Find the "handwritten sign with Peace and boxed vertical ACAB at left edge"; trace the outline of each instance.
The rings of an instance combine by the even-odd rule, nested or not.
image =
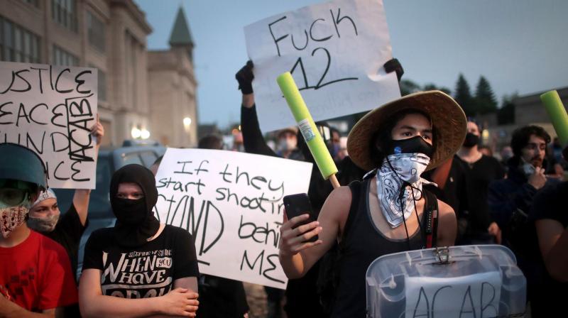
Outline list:
[[[94,189],[97,70],[0,62],[0,143],[38,153],[54,188]]]

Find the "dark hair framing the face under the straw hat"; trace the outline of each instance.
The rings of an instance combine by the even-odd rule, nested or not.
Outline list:
[[[385,160],[386,156],[389,155],[389,152],[393,147],[393,128],[395,128],[398,122],[405,118],[405,116],[411,114],[419,114],[425,116],[428,121],[430,121],[430,124],[432,123],[430,115],[419,109],[403,109],[391,115],[389,120],[385,121],[385,126],[383,126],[383,128],[380,128],[373,135],[373,138],[371,138],[371,143],[368,145],[369,149],[371,150],[370,153],[373,160],[373,165],[376,168],[381,168],[383,160]],[[436,141],[438,140],[437,134],[438,133],[436,128],[432,126],[432,146],[434,147],[434,150],[436,149]]]

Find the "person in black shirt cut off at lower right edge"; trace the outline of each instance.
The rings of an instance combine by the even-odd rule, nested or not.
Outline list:
[[[568,182],[545,187],[532,202],[529,221],[537,241],[525,248],[537,264],[528,279],[532,317],[562,317],[568,299]]]

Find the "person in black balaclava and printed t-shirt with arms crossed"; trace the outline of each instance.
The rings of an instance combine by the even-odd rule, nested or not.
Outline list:
[[[82,315],[195,317],[199,270],[193,238],[153,215],[153,173],[142,165],[116,170],[110,199],[114,228],[94,231],[85,246]]]

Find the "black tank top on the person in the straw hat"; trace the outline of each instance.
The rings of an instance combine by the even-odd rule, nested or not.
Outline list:
[[[406,238],[386,238],[373,223],[368,206],[371,180],[354,181],[349,185],[353,194],[347,221],[350,224],[341,244],[339,285],[332,318],[366,317],[365,274],[368,266],[380,256],[408,251]],[[410,236],[410,248],[413,250],[422,248],[422,234],[419,232]]]

